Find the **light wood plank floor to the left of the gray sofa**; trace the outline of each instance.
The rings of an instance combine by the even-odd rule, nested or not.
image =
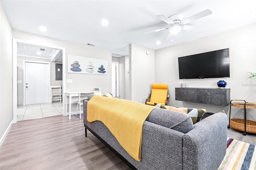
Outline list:
[[[56,116],[14,124],[0,148],[0,170],[130,169],[88,132],[82,119]]]

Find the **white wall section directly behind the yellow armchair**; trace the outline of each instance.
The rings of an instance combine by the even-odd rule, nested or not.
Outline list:
[[[146,55],[146,51],[149,51],[149,55]],[[145,103],[150,94],[151,85],[155,83],[155,51],[130,44],[129,54],[130,100],[136,102],[141,100]]]

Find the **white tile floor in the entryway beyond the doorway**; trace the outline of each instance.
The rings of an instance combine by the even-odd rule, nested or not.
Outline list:
[[[62,103],[43,103],[17,107],[17,121],[62,115]]]

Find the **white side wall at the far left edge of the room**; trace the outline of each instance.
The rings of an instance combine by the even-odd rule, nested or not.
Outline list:
[[[12,126],[12,28],[0,1],[0,146]]]

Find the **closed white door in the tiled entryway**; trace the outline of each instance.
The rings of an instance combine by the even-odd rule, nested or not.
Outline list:
[[[50,103],[49,63],[25,62],[25,104]]]

